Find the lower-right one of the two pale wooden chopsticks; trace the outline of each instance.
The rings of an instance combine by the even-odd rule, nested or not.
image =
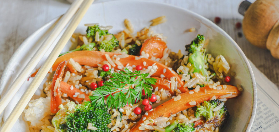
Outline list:
[[[79,0],[76,0],[79,1]],[[51,69],[52,64],[57,59],[59,53],[62,51],[63,47],[66,45],[72,34],[74,33],[74,30],[79,25],[79,22],[87,12],[90,5],[93,3],[94,0],[85,0],[78,12],[75,14],[74,18],[68,25],[67,29],[65,30],[64,34],[60,38],[60,40],[57,42],[56,46],[46,59],[45,63],[42,65],[42,67],[39,69],[38,73],[36,74],[35,78],[32,80],[30,86],[25,91],[23,96],[20,98],[17,105],[14,107],[14,110],[9,115],[8,119],[4,122],[2,129],[0,132],[8,132],[13,127],[16,120],[19,118],[21,113],[23,112],[24,108],[30,101],[31,97],[36,92],[38,86],[41,84],[42,80],[45,78],[46,74],[48,73],[49,69]]]

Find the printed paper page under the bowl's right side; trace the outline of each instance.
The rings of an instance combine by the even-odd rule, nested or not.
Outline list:
[[[250,62],[257,85],[257,111],[251,132],[279,131],[279,90]]]

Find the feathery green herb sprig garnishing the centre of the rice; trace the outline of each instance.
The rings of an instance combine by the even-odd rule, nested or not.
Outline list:
[[[151,96],[151,85],[155,85],[156,79],[146,78],[149,73],[140,74],[140,71],[131,72],[124,69],[119,73],[112,73],[109,80],[104,85],[93,91],[90,100],[100,106],[107,97],[107,107],[124,107],[127,103],[134,104],[135,100],[141,99],[141,91],[144,90],[147,96]]]

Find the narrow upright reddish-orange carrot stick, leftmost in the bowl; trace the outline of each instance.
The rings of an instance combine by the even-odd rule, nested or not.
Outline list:
[[[58,79],[60,81],[62,80],[66,65],[67,65],[67,61],[61,62],[53,75],[53,79],[51,83],[51,100],[50,100],[51,113],[57,113],[59,110],[58,106],[62,103],[60,84],[58,84],[57,89],[55,91],[54,91],[54,87]]]

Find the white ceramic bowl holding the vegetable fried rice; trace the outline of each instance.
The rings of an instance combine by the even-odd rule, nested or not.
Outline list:
[[[117,33],[124,29],[123,20],[126,18],[131,20],[135,31],[139,31],[149,26],[151,19],[162,15],[167,17],[167,22],[151,27],[151,29],[156,33],[163,33],[164,36],[167,36],[167,46],[172,51],[177,52],[179,49],[184,51],[184,46],[189,44],[197,34],[204,34],[205,38],[209,40],[207,52],[211,53],[214,57],[222,54],[231,64],[231,70],[236,73],[232,84],[241,84],[244,91],[236,99],[227,101],[226,104],[231,116],[228,124],[222,131],[249,131],[255,116],[257,97],[253,72],[247,58],[236,42],[210,20],[186,9],[167,4],[123,0],[93,4],[85,14],[76,32],[85,34],[86,27],[84,24],[99,23],[100,25],[112,25],[113,29],[110,31]],[[16,76],[34,55],[36,49],[38,49],[41,42],[46,38],[56,21],[57,19],[54,19],[47,23],[20,45],[4,70],[0,83],[1,94],[13,83]],[[196,28],[196,31],[185,32],[192,27]],[[70,46],[71,44],[68,43],[64,51],[68,50]],[[47,55],[51,49],[52,47],[46,53]],[[46,56],[38,64],[37,68],[42,65],[45,59]],[[8,117],[29,83],[30,81],[24,83],[9,106],[5,109],[2,115],[4,120]],[[39,88],[40,90],[36,92],[33,98],[38,98],[41,93],[41,88]],[[23,118],[20,117],[12,131],[23,131],[26,128]]]

